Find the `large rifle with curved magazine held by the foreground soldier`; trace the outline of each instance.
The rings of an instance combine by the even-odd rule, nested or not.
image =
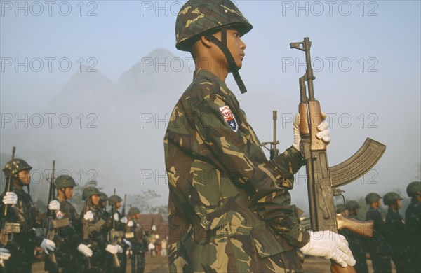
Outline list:
[[[351,158],[333,167],[328,166],[326,144],[317,139],[316,126],[323,121],[320,103],[314,98],[313,75],[308,37],[304,41],[290,43],[290,48],[305,52],[307,69],[300,83],[300,150],[305,160],[307,190],[309,197],[310,223],[312,230],[331,230],[348,228],[364,237],[373,236],[373,221],[362,222],[336,214],[333,197],[342,195],[338,186],[346,185],[366,174],[385,153],[386,146],[367,138],[359,151]],[[306,86],[307,82],[307,86]],[[307,89],[308,95],[307,97]],[[332,261],[332,260],[331,260]],[[353,267],[341,267],[332,261],[331,272],[354,272]]]

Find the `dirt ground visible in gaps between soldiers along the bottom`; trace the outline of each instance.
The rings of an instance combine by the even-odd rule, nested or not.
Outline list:
[[[151,257],[149,255],[146,256],[145,259],[145,273],[166,273],[168,272],[168,257],[162,256],[154,256]],[[369,273],[373,273],[373,269],[371,267],[371,260],[367,260],[368,270]],[[307,257],[305,258],[304,264],[304,271],[307,273],[328,273],[330,272],[330,262],[323,258],[315,258],[315,257]],[[32,272],[44,272],[44,262],[35,262],[32,266]],[[130,262],[128,260],[128,273],[131,272],[130,270]],[[392,262],[392,273],[395,273],[394,265]]]

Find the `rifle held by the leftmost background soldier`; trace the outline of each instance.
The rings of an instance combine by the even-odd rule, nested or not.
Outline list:
[[[12,176],[13,176],[13,161],[15,160],[15,152],[16,152],[16,147],[13,146],[12,148],[12,159],[11,159],[11,165],[9,166],[9,176],[8,179],[6,181],[6,185],[4,186],[4,193],[6,194],[7,192],[11,191],[12,188]],[[1,200],[0,200],[1,202]],[[10,205],[9,204],[4,204],[4,206],[2,206],[2,211],[0,211],[0,216],[1,216],[1,222],[0,222],[0,246],[1,247],[5,247],[8,244],[8,241],[11,241],[12,238],[11,236],[13,236],[13,233],[19,233],[20,232],[20,225],[19,223],[12,223],[10,220],[10,214],[11,214],[11,209],[8,209]],[[4,270],[4,272],[6,272],[6,269],[4,268],[4,262],[1,263],[1,267],[3,267],[2,270]]]

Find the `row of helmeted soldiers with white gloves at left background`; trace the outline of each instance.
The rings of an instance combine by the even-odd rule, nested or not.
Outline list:
[[[82,194],[85,206],[78,214],[69,202],[76,183],[71,176],[61,175],[52,181],[57,196],[48,202],[53,217],[46,225],[24,190],[27,186],[29,191],[31,169],[25,160],[14,158],[3,169],[11,186],[0,195],[1,273],[31,272],[36,246],[46,254],[48,272],[126,272],[126,253],[131,257],[131,272],[143,272],[147,243],[138,208],[131,207],[123,215],[121,197],[107,197],[88,186]]]

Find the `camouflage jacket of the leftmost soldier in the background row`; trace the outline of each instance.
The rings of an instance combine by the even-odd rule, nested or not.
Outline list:
[[[36,210],[32,197],[24,190],[13,189],[13,193],[18,195],[18,203],[15,206],[10,206],[11,213],[8,214],[10,217],[8,221],[12,223],[19,223],[20,233],[13,235],[13,241],[22,244],[32,244],[33,246],[39,246],[41,241],[44,239],[35,232],[35,228],[40,228],[41,223],[37,221],[39,218],[39,212]],[[4,193],[0,195],[0,200],[3,200]],[[0,202],[0,207],[3,207],[3,202]],[[0,209],[2,211],[2,209]]]

